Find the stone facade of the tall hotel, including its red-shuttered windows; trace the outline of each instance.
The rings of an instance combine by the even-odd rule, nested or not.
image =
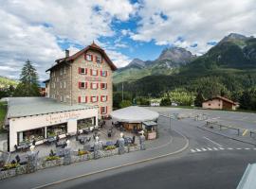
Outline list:
[[[108,116],[113,105],[113,67],[103,56],[101,48],[97,49],[87,47],[71,62],[59,62],[50,68],[49,96],[70,105],[98,106],[99,115]],[[91,60],[86,58],[87,55]],[[101,61],[97,61],[99,59]]]

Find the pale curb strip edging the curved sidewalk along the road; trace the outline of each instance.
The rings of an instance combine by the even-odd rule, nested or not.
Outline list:
[[[171,152],[171,153],[168,153],[168,154],[164,154],[164,155],[160,155],[160,156],[156,156],[156,157],[153,157],[153,158],[148,158],[148,159],[140,160],[140,161],[137,161],[137,162],[134,162],[134,163],[121,164],[121,165],[118,165],[118,166],[102,169],[102,170],[91,172],[91,173],[82,174],[80,176],[76,176],[76,177],[72,177],[72,178],[68,178],[68,179],[64,179],[64,180],[54,181],[54,182],[51,182],[51,183],[47,183],[47,184],[44,184],[44,185],[33,187],[31,189],[45,188],[45,187],[48,187],[48,186],[52,186],[52,185],[56,185],[56,184],[62,183],[64,181],[77,180],[77,179],[80,179],[80,178],[83,178],[83,177],[88,177],[88,176],[96,175],[96,174],[99,174],[99,173],[103,173],[103,172],[106,172],[106,171],[119,169],[119,168],[126,167],[126,166],[129,166],[129,165],[135,165],[135,164],[138,164],[138,163],[146,163],[146,162],[150,162],[150,161],[153,161],[153,160],[157,160],[157,159],[160,159],[160,158],[164,158],[164,157],[167,157],[167,156],[170,156],[170,155],[174,155],[174,154],[180,153],[180,152],[184,151],[185,149],[187,149],[187,147],[190,145],[190,142],[189,142],[189,139],[185,135],[181,134],[180,132],[178,132],[176,130],[174,130],[174,131],[176,133],[178,133],[179,135],[181,135],[185,139],[185,141],[186,141],[185,146],[183,146],[182,148],[180,148],[180,149],[178,149],[178,150],[176,150],[174,152]]]

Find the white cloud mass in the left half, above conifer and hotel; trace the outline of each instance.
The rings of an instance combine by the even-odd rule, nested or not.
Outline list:
[[[0,4],[0,75],[18,78],[29,59],[41,79],[54,60],[64,57],[58,43],[70,43],[73,54],[79,50],[74,43],[85,46],[115,35],[112,21],[128,20],[136,9],[128,0],[0,0]]]

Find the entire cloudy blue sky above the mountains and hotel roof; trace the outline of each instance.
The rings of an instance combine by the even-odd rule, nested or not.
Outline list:
[[[93,41],[123,67],[166,47],[202,55],[229,33],[256,36],[255,0],[0,0],[0,76],[46,69]]]

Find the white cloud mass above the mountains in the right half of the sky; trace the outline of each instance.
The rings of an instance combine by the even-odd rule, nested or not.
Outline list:
[[[255,0],[144,0],[135,41],[177,44],[201,54],[230,32],[255,35]],[[167,17],[167,19],[166,19]],[[177,42],[178,37],[185,42]],[[190,46],[197,42],[197,47]]]

